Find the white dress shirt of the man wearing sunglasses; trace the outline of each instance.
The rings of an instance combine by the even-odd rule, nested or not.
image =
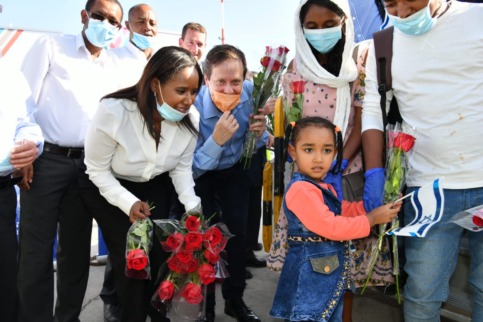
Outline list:
[[[21,70],[37,102],[37,124],[45,141],[83,147],[99,99],[117,90],[117,73],[103,49],[91,60],[82,33],[39,38]]]

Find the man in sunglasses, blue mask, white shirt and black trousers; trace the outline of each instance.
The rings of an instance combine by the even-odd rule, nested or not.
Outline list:
[[[117,36],[122,16],[117,0],[87,0],[81,11],[82,31],[77,36],[39,38],[21,67],[45,138],[43,154],[32,165],[32,182],[21,185],[17,285],[22,322],[78,321],[81,312],[92,217],[82,202],[78,173],[84,164],[85,133],[99,99],[117,89],[116,72],[104,47]]]

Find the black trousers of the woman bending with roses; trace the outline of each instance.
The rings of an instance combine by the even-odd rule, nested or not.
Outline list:
[[[99,224],[111,256],[118,303],[122,306],[121,321],[146,321],[148,315],[153,322],[169,321],[151,306],[151,297],[158,287],[155,282],[159,267],[166,261],[169,254],[163,251],[154,233],[153,249],[149,253],[151,280],[126,277],[126,235],[131,226],[129,217],[101,196],[99,189],[87,175],[79,179],[85,205]],[[151,210],[149,217],[151,220],[168,219],[172,191],[170,191],[171,185],[168,184],[170,178],[167,172],[148,182],[131,182],[122,179],[118,181],[140,200],[154,202],[156,208]]]

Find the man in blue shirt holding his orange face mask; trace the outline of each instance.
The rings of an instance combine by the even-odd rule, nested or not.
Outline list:
[[[217,220],[225,223],[235,235],[225,248],[230,275],[222,285],[225,313],[236,317],[238,322],[259,322],[242,299],[245,286],[243,222],[248,211],[251,174],[249,168],[244,169],[240,158],[247,130],[256,131],[257,148],[266,144],[268,135],[265,117],[252,114],[253,83],[244,82],[246,72],[244,54],[231,45],[214,46],[207,54],[204,62],[206,85],[194,104],[200,113],[201,135],[193,158],[193,176],[203,213],[211,216],[221,209],[221,219],[216,216]],[[252,119],[257,122],[251,124]],[[213,322],[214,306],[213,292],[207,294],[204,321]]]

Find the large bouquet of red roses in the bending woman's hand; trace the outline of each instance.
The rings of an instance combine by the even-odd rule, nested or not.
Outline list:
[[[225,224],[208,222],[198,209],[187,211],[181,221],[154,221],[161,246],[171,255],[159,269],[151,304],[168,318],[172,309],[187,319],[204,318],[206,285],[228,277],[219,253],[233,235]]]

